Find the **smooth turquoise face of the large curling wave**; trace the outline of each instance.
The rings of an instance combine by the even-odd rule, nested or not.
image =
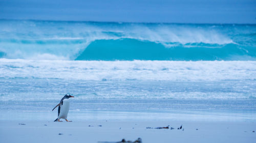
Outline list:
[[[255,60],[255,47],[242,47],[238,44],[205,43],[161,43],[136,39],[96,40],[93,41],[75,60]]]

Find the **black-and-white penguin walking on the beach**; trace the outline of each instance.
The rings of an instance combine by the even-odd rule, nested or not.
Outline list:
[[[68,117],[68,112],[69,112],[69,98],[70,97],[74,97],[72,95],[66,94],[59,102],[58,105],[56,105],[52,110],[54,110],[57,106],[59,106],[58,108],[58,118],[54,121],[58,121],[58,122],[62,122],[59,121],[59,119],[65,119],[67,122],[72,122],[67,120]]]

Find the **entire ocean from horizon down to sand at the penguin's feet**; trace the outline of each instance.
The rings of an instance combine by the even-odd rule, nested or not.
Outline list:
[[[256,121],[256,25],[0,20],[0,121]]]

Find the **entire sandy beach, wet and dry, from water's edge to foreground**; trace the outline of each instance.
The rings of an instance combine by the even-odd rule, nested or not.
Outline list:
[[[51,109],[56,102],[1,101],[0,142],[256,140],[254,100],[74,98],[68,116],[73,122],[53,122],[57,110]]]

